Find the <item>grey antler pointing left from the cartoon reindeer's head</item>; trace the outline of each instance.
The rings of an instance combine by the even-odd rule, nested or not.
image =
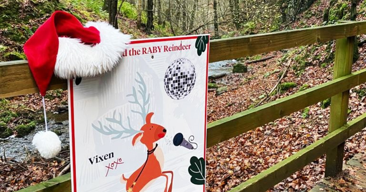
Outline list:
[[[112,127],[112,125],[106,126],[103,125],[100,121],[98,121],[99,123],[99,127],[97,127],[94,124],[91,124],[95,130],[99,131],[101,134],[104,135],[114,135],[116,134],[116,136],[112,137],[112,139],[115,138],[127,138],[130,137],[136,133],[139,133],[141,131],[139,130],[135,130],[131,127],[131,123],[130,123],[130,118],[127,117],[127,121],[128,121],[128,127],[126,128],[123,123],[122,123],[122,115],[121,113],[119,113],[120,119],[116,119],[116,110],[113,112],[113,118],[106,118],[107,121],[111,122],[111,123],[115,123],[118,124],[123,130],[116,130],[115,128]],[[104,130],[105,129],[105,130]],[[123,134],[127,134],[126,136],[122,136]],[[122,137],[121,137],[122,136]]]

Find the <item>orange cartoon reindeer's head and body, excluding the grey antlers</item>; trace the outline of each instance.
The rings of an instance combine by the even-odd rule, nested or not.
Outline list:
[[[126,183],[126,190],[128,192],[139,192],[146,189],[156,178],[165,177],[166,184],[164,192],[171,192],[173,185],[173,171],[162,171],[164,164],[164,155],[158,144],[155,143],[163,138],[167,133],[167,129],[163,126],[151,123],[151,116],[154,113],[146,115],[146,124],[144,124],[140,131],[132,139],[132,146],[140,141],[147,148],[147,158],[143,165],[138,168],[129,178],[125,178],[122,174],[121,182]],[[171,174],[171,182],[168,187],[169,177]]]

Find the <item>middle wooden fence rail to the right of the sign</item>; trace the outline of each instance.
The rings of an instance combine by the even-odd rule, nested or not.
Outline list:
[[[208,124],[207,147],[366,82],[366,69]]]

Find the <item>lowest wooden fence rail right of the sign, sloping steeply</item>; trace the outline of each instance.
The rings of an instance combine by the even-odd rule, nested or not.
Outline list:
[[[366,113],[300,150],[296,154],[241,183],[229,192],[264,192],[305,165],[338,146],[366,126]]]

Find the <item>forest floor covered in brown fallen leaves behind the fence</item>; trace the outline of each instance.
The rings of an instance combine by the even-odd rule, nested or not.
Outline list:
[[[322,23],[321,15],[325,8],[323,5],[326,5],[327,1],[319,2],[319,5],[312,6],[301,14],[299,16],[301,19],[293,23],[292,27],[296,28],[304,24],[307,26],[320,25]],[[306,16],[308,13],[312,17]],[[366,17],[360,15],[358,20],[366,20]],[[360,39],[363,38],[364,36],[360,37]],[[366,44],[358,48],[359,58],[353,65],[352,71],[366,67]],[[267,97],[268,100],[262,104],[333,79],[333,63],[328,60],[332,60],[334,57],[334,41],[272,52],[259,57],[268,56],[275,57],[264,62],[248,64],[247,73],[228,74],[226,77],[215,80],[219,86],[226,86],[227,91],[220,95],[209,92],[207,108],[209,122],[252,108]],[[241,62],[245,63],[254,58],[258,58],[258,56],[246,58]],[[288,62],[290,59],[292,62]],[[286,66],[288,64],[289,67]],[[282,84],[287,83],[289,86],[286,88],[284,86],[282,91],[269,95],[270,90],[286,68],[288,71]],[[56,106],[65,105],[67,102],[66,90],[49,91],[47,94],[51,96],[46,100],[49,111],[54,111]],[[348,120],[366,112],[365,98],[365,84],[351,89]],[[4,101],[2,100],[3,105],[14,113],[18,113],[20,106],[26,106],[28,113],[38,112],[41,108],[39,94]],[[319,102],[207,149],[206,190],[228,191],[322,138],[328,132],[329,110],[329,100]],[[19,119],[21,117],[8,122],[8,125],[15,128],[16,121],[20,121]],[[1,142],[0,140],[0,144]],[[364,152],[365,149],[366,130],[363,129],[346,141],[344,160],[349,160],[355,154]],[[64,148],[63,152],[62,157],[69,155],[67,148]],[[30,154],[23,162],[12,161],[12,157],[7,157],[5,160],[4,155],[0,156],[2,156],[0,158],[0,164],[2,164],[0,191],[15,191],[53,178],[68,163],[67,158],[44,160],[35,154]],[[269,191],[309,190],[324,178],[324,170],[325,156],[322,156]]]

